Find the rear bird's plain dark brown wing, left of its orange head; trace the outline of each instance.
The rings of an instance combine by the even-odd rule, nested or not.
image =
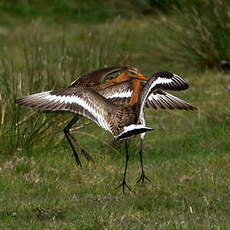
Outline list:
[[[88,72],[81,76],[79,79],[71,83],[70,87],[86,86],[93,87],[102,83],[103,80],[110,75],[120,71],[128,69],[127,66],[112,66],[103,69],[97,69],[92,72]]]

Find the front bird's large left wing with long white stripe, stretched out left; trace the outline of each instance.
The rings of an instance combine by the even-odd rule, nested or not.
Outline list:
[[[45,111],[77,113],[111,132],[109,117],[114,105],[89,88],[76,87],[36,93],[16,100],[16,103]]]

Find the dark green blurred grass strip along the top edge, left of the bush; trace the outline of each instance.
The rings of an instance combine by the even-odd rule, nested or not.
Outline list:
[[[186,4],[184,0],[182,4]],[[132,18],[140,14],[170,12],[180,4],[175,0],[2,0],[0,3],[0,22],[14,26],[23,22],[43,18],[49,23],[86,23],[98,24],[116,17]]]

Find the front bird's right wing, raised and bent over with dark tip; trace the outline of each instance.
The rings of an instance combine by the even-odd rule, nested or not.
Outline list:
[[[180,76],[170,72],[158,72],[152,75],[152,78],[145,84],[140,97],[140,117],[143,114],[144,107],[147,103],[147,98],[150,96],[152,101],[154,99],[154,92],[157,89],[168,89],[168,90],[185,90],[187,89],[188,83]],[[155,97],[156,98],[156,97]],[[172,98],[172,97],[171,97]],[[156,100],[155,100],[156,101]],[[161,100],[162,101],[162,100]],[[158,100],[159,102],[159,100]]]

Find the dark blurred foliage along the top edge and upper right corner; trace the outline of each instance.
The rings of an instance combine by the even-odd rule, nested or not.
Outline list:
[[[158,37],[157,41],[151,38],[158,62],[228,70],[229,8],[230,1],[224,0],[2,0],[0,22],[4,31],[4,25],[15,27],[34,20],[63,27],[113,23],[118,18],[157,21],[161,24],[159,31],[151,31],[153,22],[143,33]]]

